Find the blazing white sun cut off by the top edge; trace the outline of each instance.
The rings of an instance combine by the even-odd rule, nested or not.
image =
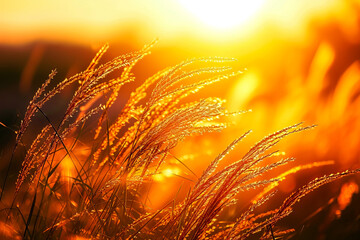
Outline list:
[[[205,24],[229,29],[249,21],[265,0],[179,0]]]

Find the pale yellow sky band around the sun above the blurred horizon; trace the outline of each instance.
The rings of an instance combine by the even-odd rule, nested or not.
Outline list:
[[[169,41],[184,34],[228,40],[247,37],[269,23],[298,37],[310,16],[339,1],[251,1],[259,2],[255,8],[249,1],[198,2],[195,5],[195,1],[189,4],[188,0],[2,1],[0,42],[13,44],[45,39],[93,44],[134,29],[143,41],[155,37]],[[217,2],[223,4],[217,6]],[[232,5],[234,2],[237,4]],[[236,23],[243,15],[249,16]],[[220,22],[220,27],[214,27],[214,22]]]

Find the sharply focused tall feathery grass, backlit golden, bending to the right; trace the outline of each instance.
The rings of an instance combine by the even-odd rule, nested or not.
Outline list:
[[[47,90],[56,77],[56,71],[51,72],[16,132],[13,155],[35,115],[47,123],[27,147],[14,185],[8,181],[9,171],[4,176],[2,238],[246,239],[258,234],[274,239],[293,231],[279,229],[276,224],[302,197],[359,171],[316,178],[291,193],[278,208],[259,213],[256,208],[276,194],[277,184],[291,171],[274,178],[262,175],[294,161],[279,158],[278,151],[272,149],[288,135],[313,126],[295,124],[268,135],[241,159],[218,168],[219,162],[250,134],[247,131],[231,142],[201,176],[196,176],[185,197],[154,211],[147,205],[144,188],[151,186],[167,159],[174,157],[170,150],[188,136],[221,131],[228,126],[227,117],[241,113],[226,111],[219,98],[194,102],[185,98],[241,72],[226,66],[235,61],[231,58],[187,60],[146,79],[119,109],[116,100],[120,88],[135,80],[132,68],[153,45],[99,65],[106,45],[85,71]],[[118,77],[109,77],[114,71],[120,72]],[[70,85],[76,90],[55,124],[44,106]],[[116,119],[108,117],[110,110],[118,111]],[[12,161],[13,156],[9,166]],[[232,223],[221,221],[219,215],[236,203],[239,193],[256,188],[264,191],[248,209]],[[6,202],[4,196],[11,192],[14,196]]]

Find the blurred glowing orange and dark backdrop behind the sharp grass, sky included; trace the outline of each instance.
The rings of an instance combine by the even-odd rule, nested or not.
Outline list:
[[[332,164],[288,175],[269,205],[279,206],[285,196],[315,177],[360,167],[358,0],[1,1],[0,121],[16,130],[29,100],[52,69],[59,72],[55,81],[61,81],[84,70],[105,43],[110,50],[104,61],[155,38],[160,41],[152,54],[134,70],[139,82],[193,57],[235,57],[234,68],[244,70],[240,77],[198,95],[223,97],[230,110],[252,112],[232,119],[233,126],[221,134],[188,139],[174,150],[178,157],[191,155],[183,161],[194,172],[201,174],[246,130],[253,133],[224,164],[238,160],[262,137],[298,122],[318,126],[277,147],[297,159],[285,170],[320,161]],[[125,99],[135,86],[122,90]],[[66,94],[47,109],[50,117],[71,90]],[[13,132],[1,127],[0,143],[4,169]],[[14,167],[13,179],[19,166]],[[155,179],[167,184],[152,188],[154,208],[168,201],[157,197],[159,192],[176,194],[184,181],[176,175],[182,172],[187,174],[183,167],[170,164],[166,174]],[[357,239],[359,179],[346,178],[309,194],[282,224],[295,227],[299,239]],[[239,201],[227,210],[228,219],[236,218],[248,197],[240,195]]]

